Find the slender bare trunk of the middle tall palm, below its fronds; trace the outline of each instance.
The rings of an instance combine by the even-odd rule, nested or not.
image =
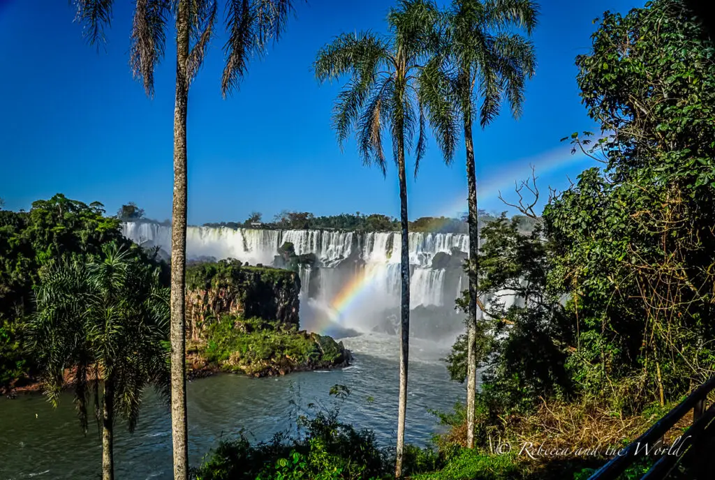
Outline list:
[[[407,369],[410,357],[410,239],[407,215],[407,176],[405,174],[405,142],[398,139],[398,174],[400,176],[400,401],[398,405],[398,446],[395,477],[402,476],[403,450],[405,449],[405,414],[407,410]]]

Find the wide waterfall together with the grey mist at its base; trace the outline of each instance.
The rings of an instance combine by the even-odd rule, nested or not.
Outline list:
[[[168,254],[171,228],[127,222],[123,233],[144,247]],[[382,331],[392,334],[400,304],[400,234],[328,230],[230,229],[189,226],[187,259],[238,259],[280,266],[279,248],[293,244],[296,255],[314,254],[300,265],[304,329],[320,334]],[[454,301],[467,284],[462,269],[469,238],[465,234],[410,233],[410,324],[414,336],[453,338],[463,330]]]

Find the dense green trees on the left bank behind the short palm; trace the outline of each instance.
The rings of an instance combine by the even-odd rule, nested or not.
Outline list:
[[[87,205],[62,194],[35,201],[29,212],[0,211],[0,389],[34,371],[34,362],[24,354],[22,326],[34,311],[33,289],[44,269],[60,261],[92,261],[109,243],[147,264],[162,265],[124,239],[119,227],[118,219],[104,216],[102,204]],[[161,280],[168,284],[166,265]]]

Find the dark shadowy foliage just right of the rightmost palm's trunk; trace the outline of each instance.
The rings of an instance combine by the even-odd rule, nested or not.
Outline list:
[[[569,390],[564,363],[573,334],[558,297],[547,289],[548,244],[541,224],[527,235],[519,224],[520,219],[502,215],[480,235],[478,294],[489,301],[477,331],[476,355],[483,367],[479,396],[499,411],[528,410],[540,397]],[[523,304],[506,306],[505,292]],[[463,311],[468,293],[457,300]],[[446,359],[453,379],[464,381],[466,356],[461,335]]]

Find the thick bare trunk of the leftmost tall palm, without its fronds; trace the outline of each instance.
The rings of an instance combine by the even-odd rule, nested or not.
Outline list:
[[[174,204],[172,207],[172,439],[174,480],[186,480],[189,447],[186,414],[186,276],[187,153],[186,117],[189,101],[187,59],[189,57],[189,2],[179,1],[177,19],[177,89],[174,104]]]

